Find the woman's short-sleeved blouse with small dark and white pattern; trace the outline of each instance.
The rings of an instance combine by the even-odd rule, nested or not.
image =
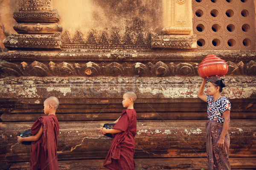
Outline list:
[[[222,96],[213,102],[213,96],[207,96],[207,102],[208,119],[211,121],[217,121],[218,123],[224,123],[224,117],[222,113],[227,109],[231,109],[231,104],[228,99]]]

